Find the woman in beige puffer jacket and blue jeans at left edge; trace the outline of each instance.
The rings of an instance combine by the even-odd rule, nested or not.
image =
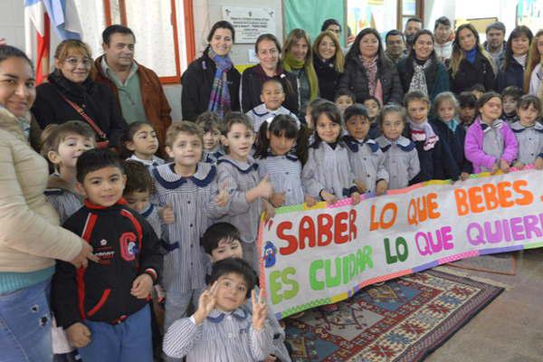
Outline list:
[[[52,361],[49,290],[55,259],[87,264],[92,248],[59,226],[45,200],[48,167],[33,151],[24,127],[35,99],[32,63],[24,52],[0,46],[0,350],[7,361]]]

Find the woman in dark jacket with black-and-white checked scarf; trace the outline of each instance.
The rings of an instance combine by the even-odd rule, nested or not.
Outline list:
[[[409,56],[397,64],[404,93],[420,90],[432,101],[442,91],[449,90],[449,73],[437,60],[433,44],[431,31],[418,31]]]

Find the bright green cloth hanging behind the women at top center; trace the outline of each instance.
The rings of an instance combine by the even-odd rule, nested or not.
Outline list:
[[[283,0],[285,39],[292,29],[301,28],[310,34],[311,42],[319,35],[320,26],[333,18],[341,24],[340,42],[345,46],[345,2],[343,0]]]

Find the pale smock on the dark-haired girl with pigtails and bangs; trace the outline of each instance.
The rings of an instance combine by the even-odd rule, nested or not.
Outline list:
[[[301,186],[301,162],[295,155],[257,158],[258,173],[270,177],[273,192],[285,193],[285,206],[303,204],[304,192]]]

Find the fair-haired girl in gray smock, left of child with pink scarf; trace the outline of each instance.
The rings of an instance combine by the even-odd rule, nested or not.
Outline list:
[[[407,187],[421,170],[414,142],[402,136],[405,118],[405,110],[401,106],[391,104],[381,110],[383,136],[376,141],[385,154],[389,190]]]

